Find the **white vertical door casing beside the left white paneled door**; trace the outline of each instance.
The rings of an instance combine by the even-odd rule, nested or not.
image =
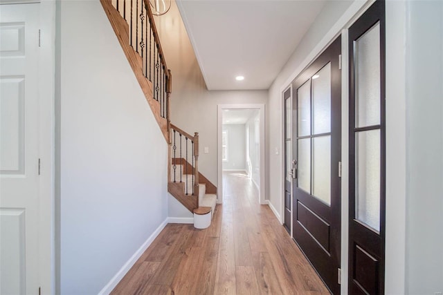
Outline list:
[[[55,0],[39,2],[39,280],[55,294]]]

